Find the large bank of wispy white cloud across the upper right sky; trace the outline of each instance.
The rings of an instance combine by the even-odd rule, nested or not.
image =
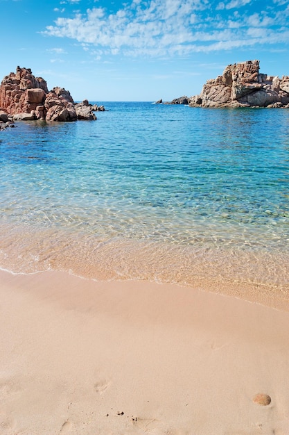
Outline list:
[[[289,0],[273,1],[278,7],[260,0],[216,1],[215,6],[209,0],[131,0],[115,13],[91,8],[59,17],[44,33],[76,40],[98,56],[187,56],[288,44]]]

